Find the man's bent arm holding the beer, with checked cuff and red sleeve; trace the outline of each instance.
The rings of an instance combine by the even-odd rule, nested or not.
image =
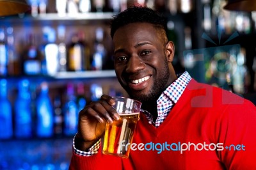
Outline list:
[[[111,106],[113,104],[115,104],[113,98],[102,95],[98,102],[86,105],[79,112],[78,132],[73,146],[76,150],[73,151],[69,169],[98,169],[109,166],[108,164],[115,164],[115,167],[121,169],[120,158],[102,155],[101,150],[98,151],[99,144],[97,145],[104,135],[106,121],[112,123],[114,119],[119,119],[115,109]],[[90,154],[93,152],[92,148],[95,149],[94,154]],[[119,164],[120,166],[117,166]]]

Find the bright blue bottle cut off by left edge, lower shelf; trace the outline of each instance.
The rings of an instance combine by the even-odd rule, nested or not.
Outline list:
[[[13,135],[12,105],[7,97],[7,81],[0,80],[0,139],[10,139]]]

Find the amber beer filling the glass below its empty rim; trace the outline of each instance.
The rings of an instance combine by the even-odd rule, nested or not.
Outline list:
[[[102,153],[128,158],[140,113],[120,113],[119,116],[120,120],[114,120],[113,123],[106,123]]]

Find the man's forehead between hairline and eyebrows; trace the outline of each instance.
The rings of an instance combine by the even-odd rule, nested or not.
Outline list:
[[[113,36],[114,44],[137,43],[141,41],[159,42],[161,34],[153,24],[136,22],[127,24],[116,30]]]

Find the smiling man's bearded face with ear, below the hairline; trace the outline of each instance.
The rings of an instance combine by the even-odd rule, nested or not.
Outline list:
[[[168,61],[173,44],[166,45],[164,37],[148,23],[120,27],[113,37],[118,81],[141,102],[156,100],[171,83]]]

